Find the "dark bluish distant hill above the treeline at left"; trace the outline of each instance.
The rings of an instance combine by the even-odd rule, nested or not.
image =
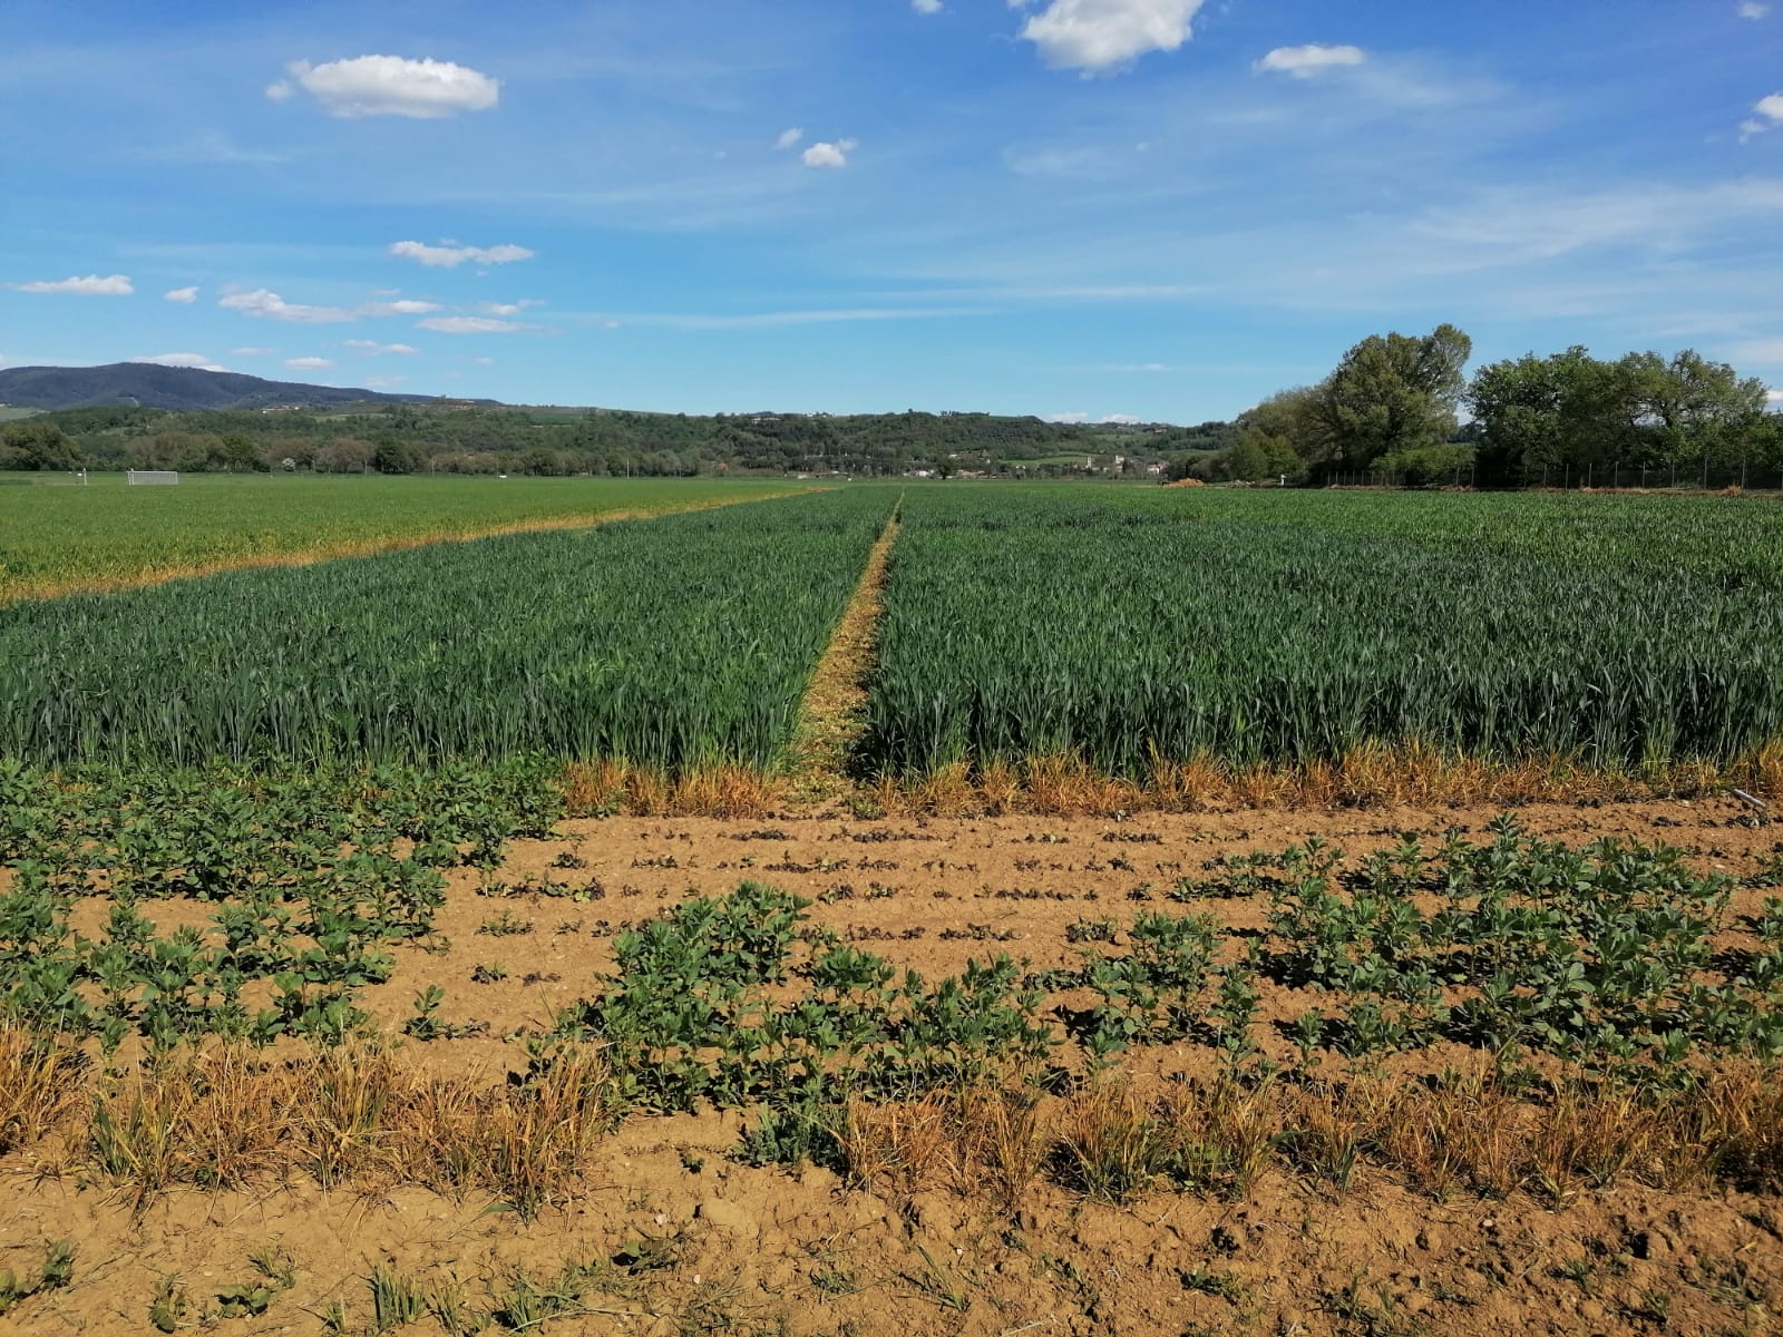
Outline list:
[[[234,371],[162,367],[153,362],[112,362],[105,367],[0,369],[0,405],[18,408],[84,408],[137,405],[194,412],[203,408],[332,408],[364,403],[435,403],[430,394],[380,394],[335,385],[269,381]],[[458,401],[490,405],[494,399]]]

